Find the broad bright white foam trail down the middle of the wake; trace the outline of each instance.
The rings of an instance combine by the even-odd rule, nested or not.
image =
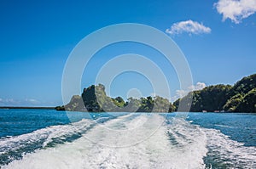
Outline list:
[[[22,161],[13,161],[3,168],[202,168],[204,166],[202,157],[207,149],[204,148],[204,144],[198,143],[201,135],[190,134],[188,138],[180,140],[180,136],[175,136],[182,146],[172,144],[167,131],[187,134],[186,129],[183,128],[186,126],[180,124],[172,129],[172,126],[161,125],[164,120],[165,118],[160,115],[140,115],[131,121],[117,118],[105,123],[108,130],[102,130],[98,125],[73,143],[38,150],[37,153],[26,155]],[[145,121],[150,121],[150,124]],[[132,134],[119,132],[122,134],[116,135],[115,131],[118,127],[134,128],[133,123],[139,124],[139,129],[127,130],[133,132]],[[111,146],[113,143],[116,145],[134,143],[138,138],[147,138],[157,125],[160,125],[159,129],[150,138],[138,144],[122,148],[102,145],[102,143]],[[85,137],[94,138],[94,141],[100,144],[92,143]],[[189,142],[186,143],[188,139],[191,139],[191,146]],[[193,143],[195,140],[198,142]],[[194,149],[193,146],[197,147]]]

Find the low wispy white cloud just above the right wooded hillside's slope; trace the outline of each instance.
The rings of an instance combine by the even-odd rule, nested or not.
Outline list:
[[[177,100],[179,98],[183,98],[189,92],[195,91],[195,90],[201,90],[204,87],[207,87],[206,83],[197,82],[196,85],[192,85],[192,86],[188,87],[186,90],[176,90],[176,95],[174,97],[172,97],[171,101],[174,102],[175,100]]]

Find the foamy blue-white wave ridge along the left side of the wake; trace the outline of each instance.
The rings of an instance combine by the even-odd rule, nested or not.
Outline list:
[[[72,124],[45,127],[19,136],[0,138],[0,165],[20,160],[22,156],[36,149],[46,149],[54,147],[55,144],[72,142],[97,123],[103,123],[111,118],[113,117],[100,117],[94,121],[82,119]]]

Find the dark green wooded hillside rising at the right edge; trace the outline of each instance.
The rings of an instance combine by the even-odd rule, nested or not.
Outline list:
[[[183,99],[192,99],[190,111],[256,112],[256,74],[230,85],[214,85],[190,92]],[[180,101],[173,104],[176,107]]]

